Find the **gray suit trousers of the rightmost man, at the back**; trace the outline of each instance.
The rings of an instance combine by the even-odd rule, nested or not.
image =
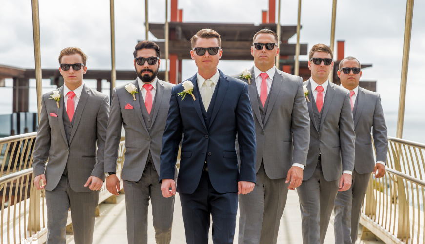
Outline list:
[[[354,244],[360,221],[360,210],[366,195],[370,173],[359,174],[353,172],[351,188],[338,192],[335,199],[335,243]]]

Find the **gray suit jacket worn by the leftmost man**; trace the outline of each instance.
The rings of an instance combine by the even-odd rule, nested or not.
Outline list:
[[[68,180],[76,192],[91,191],[84,187],[88,177],[104,179],[103,153],[108,124],[109,103],[105,94],[84,85],[74,113],[71,136],[66,139],[63,126],[63,86],[59,108],[50,99],[53,92],[42,96],[41,118],[33,151],[34,176],[45,174],[46,190],[56,188],[67,167]],[[57,115],[57,116],[54,116]],[[97,150],[96,150],[97,142]],[[49,162],[45,164],[47,159]]]

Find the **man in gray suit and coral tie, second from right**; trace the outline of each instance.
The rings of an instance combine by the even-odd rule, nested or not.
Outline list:
[[[310,114],[310,145],[304,179],[297,189],[304,244],[324,242],[338,191],[348,190],[354,167],[354,122],[347,90],[330,83],[332,50],[314,45],[308,55],[311,77],[304,82]]]

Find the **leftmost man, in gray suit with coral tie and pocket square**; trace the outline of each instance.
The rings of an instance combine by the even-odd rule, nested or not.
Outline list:
[[[46,190],[47,244],[66,243],[70,207],[74,242],[93,242],[95,208],[105,177],[109,99],[84,84],[86,61],[80,48],[63,49],[59,72],[65,84],[44,94],[41,100],[33,174],[35,187]]]

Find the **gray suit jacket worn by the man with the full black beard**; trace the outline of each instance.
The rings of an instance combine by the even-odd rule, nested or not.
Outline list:
[[[128,181],[138,181],[142,177],[149,150],[152,160],[160,174],[160,153],[162,134],[165,129],[168,109],[170,107],[171,88],[168,82],[157,80],[155,106],[152,110],[152,126],[150,132],[144,122],[140,101],[136,94],[133,96],[125,90],[125,86],[114,88],[112,93],[111,113],[106,136],[104,172],[115,172],[118,157],[118,143],[121,137],[121,128],[125,130],[125,158],[121,178]],[[137,79],[132,82],[140,93]],[[124,109],[127,104],[133,109]],[[177,170],[175,170],[177,173]]]

